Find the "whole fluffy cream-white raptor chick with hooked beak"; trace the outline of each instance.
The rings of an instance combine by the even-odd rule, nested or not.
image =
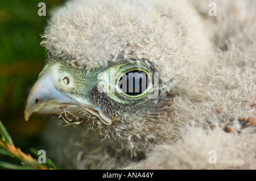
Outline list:
[[[48,139],[69,169],[256,169],[256,3],[228,2],[67,2],[25,119],[74,125]]]

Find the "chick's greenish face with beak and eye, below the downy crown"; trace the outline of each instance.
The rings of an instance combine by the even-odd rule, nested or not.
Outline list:
[[[96,120],[105,125],[152,119],[162,108],[156,106],[158,81],[154,65],[146,60],[121,58],[90,70],[51,60],[32,87],[25,118],[37,112],[67,123]]]

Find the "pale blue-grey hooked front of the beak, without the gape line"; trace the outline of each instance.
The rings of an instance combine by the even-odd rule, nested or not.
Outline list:
[[[25,120],[27,121],[32,113],[57,114],[65,108],[80,106],[80,103],[59,91],[48,73],[42,74],[38,81],[32,86],[28,95]]]

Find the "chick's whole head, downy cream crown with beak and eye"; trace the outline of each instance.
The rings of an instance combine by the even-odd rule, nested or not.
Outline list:
[[[25,119],[56,115],[121,140],[156,140],[168,99],[185,94],[208,48],[199,17],[179,3],[73,1],[58,9]]]

